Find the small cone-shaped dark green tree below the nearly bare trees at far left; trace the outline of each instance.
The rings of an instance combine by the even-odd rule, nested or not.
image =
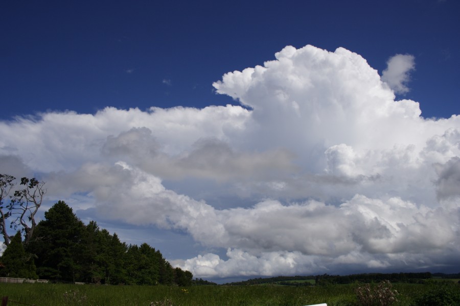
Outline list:
[[[11,240],[1,258],[2,276],[38,278],[35,272],[34,260],[27,254],[22,245],[21,233],[18,231]]]

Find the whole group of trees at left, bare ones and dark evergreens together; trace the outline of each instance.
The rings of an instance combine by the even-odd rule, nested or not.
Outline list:
[[[192,273],[172,267],[159,250],[147,243],[127,245],[95,221],[84,224],[64,201],[36,223],[44,183],[23,178],[22,189],[10,196],[15,179],[0,175],[0,234],[7,245],[0,258],[1,276],[112,285],[192,284]],[[11,227],[20,228],[13,237],[6,231],[10,217]]]

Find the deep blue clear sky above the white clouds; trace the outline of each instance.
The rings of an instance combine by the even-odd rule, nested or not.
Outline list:
[[[416,57],[424,116],[458,113],[456,1],[98,1],[1,4],[2,118],[106,106],[225,105],[212,83],[286,45],[344,47],[382,71]],[[164,83],[163,81],[168,83]],[[169,84],[169,85],[168,85]],[[5,109],[5,108],[4,108]]]

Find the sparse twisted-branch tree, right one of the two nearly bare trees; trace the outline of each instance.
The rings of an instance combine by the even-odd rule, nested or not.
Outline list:
[[[25,186],[24,189],[16,190],[14,197],[10,201],[9,210],[11,215],[15,215],[16,219],[11,222],[11,227],[15,230],[20,225],[22,231],[25,232],[24,243],[29,243],[34,233],[35,214],[41,206],[43,196],[47,192],[44,189],[44,182],[39,182],[35,179],[22,177],[20,185]]]

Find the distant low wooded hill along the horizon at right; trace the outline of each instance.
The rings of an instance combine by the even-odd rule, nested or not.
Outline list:
[[[446,274],[436,273],[439,277]],[[443,276],[442,276],[443,275]],[[458,274],[449,274],[458,275]],[[291,285],[300,286],[298,281],[306,281],[314,279],[316,285],[330,285],[330,284],[351,284],[354,282],[359,283],[372,283],[388,280],[390,282],[398,283],[419,283],[421,279],[429,279],[433,276],[430,272],[421,273],[365,273],[365,274],[351,274],[351,275],[309,275],[309,276],[276,276],[268,278],[252,278],[243,282],[228,283],[225,285],[243,286],[243,285],[260,285],[260,284],[278,284],[278,285]],[[446,278],[446,277],[443,277]],[[457,277],[451,277],[457,278]],[[458,277],[460,278],[460,277]],[[297,281],[297,283],[296,283]],[[304,283],[304,286],[310,284]]]

